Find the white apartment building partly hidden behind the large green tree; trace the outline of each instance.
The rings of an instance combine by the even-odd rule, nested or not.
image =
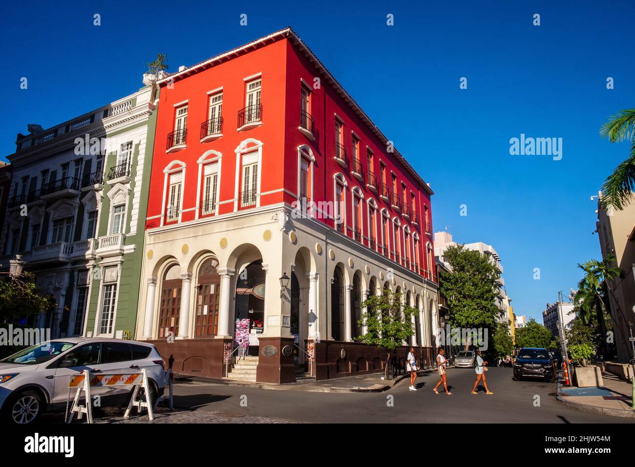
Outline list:
[[[452,240],[452,234],[449,232],[435,232],[434,233],[434,255],[439,261],[444,262],[443,253],[446,248],[451,246],[457,246],[458,243]],[[503,323],[509,327],[509,334],[514,333],[514,318],[513,310],[510,305],[511,298],[507,296],[507,290],[505,290],[505,280],[502,278],[503,266],[500,261],[498,253],[491,245],[487,245],[481,241],[476,243],[465,243],[465,248],[468,250],[474,250],[481,252],[490,258],[490,262],[494,264],[498,269],[498,278],[496,283],[496,304],[498,306],[498,315],[496,319],[499,323]]]

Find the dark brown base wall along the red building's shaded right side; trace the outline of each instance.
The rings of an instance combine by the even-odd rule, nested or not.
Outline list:
[[[405,367],[409,348],[410,346],[401,346],[395,349],[401,367]],[[313,374],[316,381],[321,381],[384,372],[388,351],[361,342],[322,341],[316,343],[315,355]],[[415,348],[417,361],[424,368],[432,365],[431,355],[431,348]]]

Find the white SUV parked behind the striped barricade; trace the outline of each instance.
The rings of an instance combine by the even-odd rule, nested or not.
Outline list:
[[[12,423],[32,423],[44,412],[64,411],[72,402],[70,377],[84,370],[122,374],[147,371],[150,400],[163,395],[168,383],[164,361],[152,344],[121,339],[69,337],[41,342],[0,360],[0,417]],[[91,388],[102,406],[128,402],[130,386]]]

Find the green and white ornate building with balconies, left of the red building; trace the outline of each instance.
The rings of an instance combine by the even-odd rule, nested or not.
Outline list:
[[[8,156],[0,264],[20,255],[55,298],[54,311],[27,320],[53,338],[133,334],[154,142],[149,95],[145,86],[46,130],[29,125]]]

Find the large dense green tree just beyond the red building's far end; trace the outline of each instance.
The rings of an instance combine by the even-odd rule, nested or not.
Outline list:
[[[498,269],[490,256],[457,245],[446,248],[443,257],[450,271],[441,271],[439,287],[448,302],[450,324],[493,328],[500,310],[496,305]],[[465,342],[465,348],[469,344]]]

